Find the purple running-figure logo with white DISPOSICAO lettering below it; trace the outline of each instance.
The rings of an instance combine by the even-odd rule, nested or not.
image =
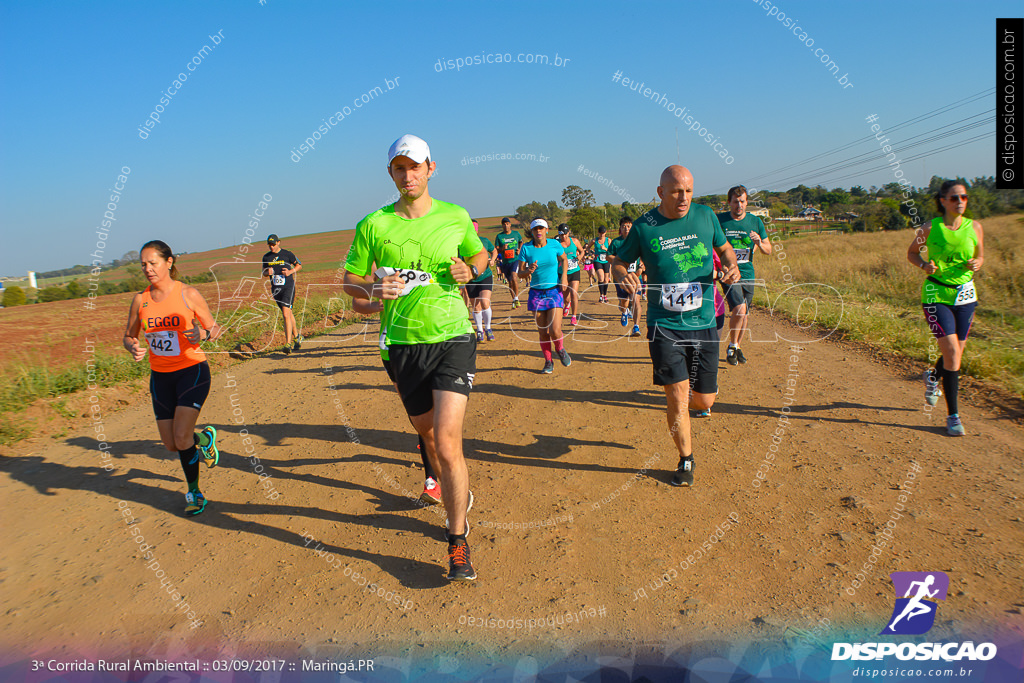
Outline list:
[[[892,616],[880,636],[920,636],[935,625],[939,609],[937,600],[945,600],[949,577],[943,571],[894,571],[893,588],[896,604]],[[902,597],[900,597],[902,596]],[[882,659],[895,654],[898,659],[956,661],[987,661],[995,656],[993,643],[835,643],[833,660]]]

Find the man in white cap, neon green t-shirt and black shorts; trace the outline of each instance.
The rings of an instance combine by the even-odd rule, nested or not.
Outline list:
[[[436,168],[419,137],[402,135],[391,145],[387,170],[401,196],[356,225],[345,292],[384,301],[381,327],[395,385],[441,482],[447,579],[473,581],[466,542],[473,494],[462,425],[476,372],[476,338],[459,286],[479,276],[487,254],[465,209],[431,199],[427,181]]]

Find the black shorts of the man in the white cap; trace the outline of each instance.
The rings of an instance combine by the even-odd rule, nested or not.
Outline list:
[[[410,417],[429,413],[433,392],[464,396],[476,375],[476,337],[462,335],[437,344],[391,344],[388,356],[401,402]]]

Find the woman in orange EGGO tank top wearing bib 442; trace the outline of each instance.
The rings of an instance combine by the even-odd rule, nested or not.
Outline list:
[[[122,343],[135,360],[150,354],[150,392],[157,428],[164,447],[176,451],[185,473],[185,514],[206,509],[199,489],[199,458],[208,467],[217,464],[217,430],[205,427],[196,433],[199,412],[210,393],[210,365],[200,348],[217,339],[220,327],[206,300],[177,281],[175,256],[165,243],[154,240],[140,251],[142,273],[150,286],[132,299],[128,327]]]

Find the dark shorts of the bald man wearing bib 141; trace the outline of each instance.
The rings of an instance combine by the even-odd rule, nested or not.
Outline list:
[[[690,381],[695,393],[718,391],[718,330],[647,328],[654,384]]]

